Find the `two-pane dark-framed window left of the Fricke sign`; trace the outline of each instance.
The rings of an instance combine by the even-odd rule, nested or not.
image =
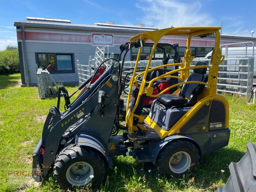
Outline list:
[[[36,61],[38,68],[50,73],[74,73],[74,54],[36,53]]]

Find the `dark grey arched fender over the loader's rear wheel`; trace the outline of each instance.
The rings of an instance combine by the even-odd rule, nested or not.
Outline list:
[[[191,143],[193,143],[198,152],[199,152],[199,156],[200,156],[200,159],[199,159],[199,162],[201,163],[203,161],[203,153],[202,153],[202,149],[200,148],[200,146],[196,143],[195,140],[193,140],[192,138],[188,137],[188,136],[184,136],[184,135],[171,135],[169,137],[165,137],[164,139],[162,140],[155,140],[151,143],[151,146],[150,146],[150,151],[151,151],[151,160],[152,160],[152,163],[155,165],[156,164],[156,157],[158,155],[158,153],[160,152],[160,150],[169,142],[173,141],[173,140],[176,140],[176,139],[185,139],[185,140],[188,140],[190,141]]]

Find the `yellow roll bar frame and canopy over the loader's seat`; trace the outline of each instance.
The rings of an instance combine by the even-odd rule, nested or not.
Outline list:
[[[174,86],[180,85],[180,84],[201,83],[201,84],[207,85],[207,89],[209,91],[210,96],[213,96],[216,94],[219,63],[221,63],[224,60],[224,56],[221,55],[221,51],[220,51],[220,32],[219,32],[220,29],[221,29],[220,27],[175,27],[175,28],[172,27],[172,28],[166,28],[166,29],[160,29],[160,30],[155,30],[155,31],[139,33],[130,38],[130,42],[133,42],[133,43],[141,42],[140,43],[141,47],[138,52],[133,75],[132,75],[130,85],[129,85],[128,100],[130,99],[132,86],[135,85],[137,87],[140,87],[139,95],[136,100],[134,108],[132,110],[130,110],[128,105],[126,107],[126,111],[127,111],[126,124],[129,127],[129,132],[133,132],[134,130],[136,130],[136,127],[133,126],[133,116],[140,118],[139,116],[134,114],[134,111],[138,106],[140,96],[143,93],[146,93],[146,95],[149,97],[158,97],[160,94],[162,94],[162,92],[161,92],[158,95],[152,95],[153,88],[150,86],[152,85],[153,81],[156,81],[156,79],[158,79],[158,78],[166,78],[166,77],[170,76],[171,74],[178,72],[178,71],[180,71],[180,77],[178,77],[178,78],[182,81],[182,80],[188,78],[189,69],[202,68],[202,66],[201,67],[199,67],[199,66],[190,67],[189,66],[189,63],[194,59],[194,56],[191,55],[191,51],[190,51],[190,42],[191,42],[191,39],[193,36],[205,37],[205,36],[215,34],[215,46],[214,46],[214,50],[212,51],[212,57],[211,57],[212,66],[209,66],[209,65],[204,66],[204,67],[209,68],[208,83],[206,84],[206,83],[202,83],[202,82],[183,82],[183,83],[179,83],[176,85],[172,85],[168,89],[170,89]],[[156,45],[163,36],[188,36],[187,45],[186,45],[187,49],[184,52],[184,59],[183,59],[184,66],[182,65],[180,69],[173,70],[172,72],[168,72],[164,75],[154,78],[153,80],[148,82],[149,86],[147,87],[147,86],[145,86],[146,85],[146,76],[149,71],[152,71],[152,70],[154,70],[156,68],[160,68],[160,67],[168,67],[171,65],[180,65],[180,63],[179,64],[168,64],[168,65],[158,66],[158,67],[149,69],[152,57],[154,55],[153,53],[155,52],[155,49],[156,49]],[[154,42],[154,46],[153,46],[151,54],[148,58],[148,64],[146,66],[145,72],[142,72],[136,76],[136,69],[138,66],[138,62],[140,60],[140,52],[141,52],[142,44],[148,40],[151,40]],[[141,80],[141,84],[139,85],[138,82],[135,81],[135,79],[140,75],[143,75],[143,79]],[[171,77],[173,77],[173,76],[171,76]],[[165,92],[165,91],[167,91],[167,89],[164,90],[163,92]],[[141,121],[143,121],[143,119],[144,118],[141,118]]]

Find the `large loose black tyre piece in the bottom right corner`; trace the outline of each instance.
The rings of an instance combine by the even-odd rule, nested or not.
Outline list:
[[[247,152],[238,163],[228,166],[230,176],[227,183],[217,192],[255,192],[256,191],[256,145],[247,143]]]

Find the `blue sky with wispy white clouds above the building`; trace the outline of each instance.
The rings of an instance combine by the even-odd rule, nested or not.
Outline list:
[[[26,17],[67,19],[92,24],[115,21],[119,25],[148,27],[220,26],[222,34],[256,37],[255,0],[1,0],[0,50],[17,46],[14,21]]]

